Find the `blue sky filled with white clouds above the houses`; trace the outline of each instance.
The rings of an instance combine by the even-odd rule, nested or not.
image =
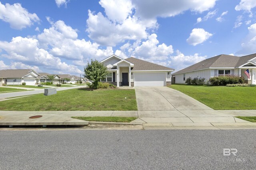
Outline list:
[[[0,0],[0,69],[79,75],[116,54],[178,71],[255,47],[255,0]]]

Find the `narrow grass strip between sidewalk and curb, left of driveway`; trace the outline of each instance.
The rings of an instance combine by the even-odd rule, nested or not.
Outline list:
[[[85,121],[131,122],[138,117],[72,117]]]

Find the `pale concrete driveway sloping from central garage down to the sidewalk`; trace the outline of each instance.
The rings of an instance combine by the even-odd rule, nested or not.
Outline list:
[[[138,110],[212,110],[194,98],[168,87],[134,87]]]

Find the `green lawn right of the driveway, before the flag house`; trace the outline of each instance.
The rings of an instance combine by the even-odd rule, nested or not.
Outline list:
[[[256,87],[194,86],[172,84],[169,86],[202,102],[212,109],[256,109]]]

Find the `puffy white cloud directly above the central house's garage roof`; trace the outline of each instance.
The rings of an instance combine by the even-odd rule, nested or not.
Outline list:
[[[148,36],[148,40],[143,41],[134,49],[131,48],[131,57],[136,57],[153,63],[165,62],[166,59],[173,53],[172,45],[167,46],[165,43],[160,45],[156,34]]]

